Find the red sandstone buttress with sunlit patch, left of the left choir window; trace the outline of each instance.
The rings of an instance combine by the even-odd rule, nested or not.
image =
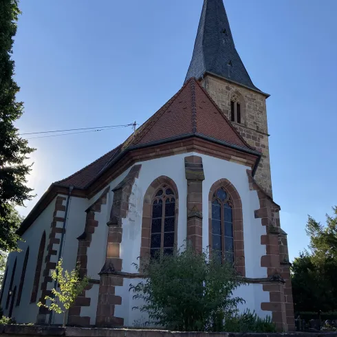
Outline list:
[[[110,221],[107,223],[107,226],[109,226],[107,254],[105,265],[100,272],[96,313],[97,326],[114,327],[124,325],[124,318],[115,316],[115,306],[122,304],[122,298],[115,295],[115,287],[122,286],[124,279],[114,273],[122,270],[122,259],[120,259],[122,219],[127,217],[129,198],[135,179],[139,176],[140,168],[142,168],[142,165],[133,166],[124,180],[113,189]]]

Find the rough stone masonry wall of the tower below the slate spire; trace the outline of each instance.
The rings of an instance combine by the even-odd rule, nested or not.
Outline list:
[[[205,76],[202,84],[229,120],[230,100],[234,94],[238,96],[241,103],[241,124],[234,122],[232,124],[250,146],[262,152],[259,168],[254,178],[265,192],[272,195],[265,96],[210,75]]]

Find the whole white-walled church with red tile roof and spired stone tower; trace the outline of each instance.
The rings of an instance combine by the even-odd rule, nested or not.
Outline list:
[[[187,70],[187,69],[186,69]],[[178,88],[177,88],[178,89]],[[129,292],[133,263],[190,241],[236,261],[240,310],[294,330],[287,234],[272,197],[268,94],[235,48],[223,0],[204,0],[185,83],[116,149],[54,182],[19,229],[1,308],[18,323],[61,324],[36,303],[58,259],[90,277],[68,324],[132,327],[146,320]],[[188,285],[186,285],[188,286]]]

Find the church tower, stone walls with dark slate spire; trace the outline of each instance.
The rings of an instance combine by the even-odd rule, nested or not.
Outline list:
[[[235,48],[223,0],[204,0],[191,65],[195,77],[241,136],[262,153],[255,180],[272,195],[265,94],[252,83]]]

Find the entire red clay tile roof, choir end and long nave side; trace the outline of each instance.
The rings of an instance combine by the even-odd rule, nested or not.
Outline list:
[[[192,134],[232,144],[243,151],[256,151],[243,140],[199,82],[191,78],[123,144],[56,184],[85,188],[125,149]]]

